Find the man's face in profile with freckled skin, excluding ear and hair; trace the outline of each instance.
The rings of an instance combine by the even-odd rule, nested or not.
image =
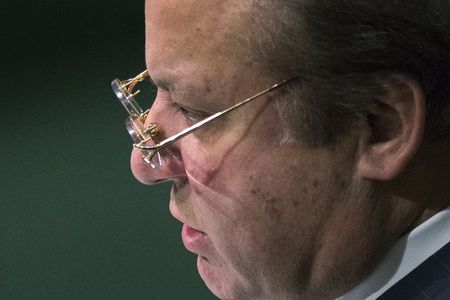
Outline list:
[[[147,1],[146,60],[158,95],[146,123],[166,137],[275,83],[240,56],[248,20],[238,2]],[[268,95],[170,146],[158,169],[133,150],[138,180],[174,182],[170,212],[220,298],[320,291],[345,281],[335,277],[356,253],[372,254],[361,238],[370,231],[368,205],[348,188],[357,181],[356,145],[283,144],[282,130]],[[347,249],[355,239],[361,245]]]

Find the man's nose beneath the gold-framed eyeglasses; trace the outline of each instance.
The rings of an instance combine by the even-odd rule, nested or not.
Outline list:
[[[174,128],[174,124],[173,120],[164,117],[165,115],[167,114],[164,114],[164,107],[161,101],[158,101],[157,96],[149,110],[144,128],[151,123],[155,123],[164,132],[161,138],[167,138],[173,134],[171,128]],[[186,176],[179,143],[173,143],[161,149],[159,152],[159,161],[159,166],[152,167],[144,161],[140,150],[133,148],[130,158],[131,171],[134,177],[144,184],[157,184],[165,181],[179,180]]]

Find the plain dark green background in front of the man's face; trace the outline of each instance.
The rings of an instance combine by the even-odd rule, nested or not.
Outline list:
[[[8,2],[0,26],[0,298],[213,299],[110,88],[145,67],[143,0]]]

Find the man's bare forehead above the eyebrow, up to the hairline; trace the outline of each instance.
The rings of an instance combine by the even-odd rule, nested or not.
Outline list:
[[[158,73],[162,67],[174,72],[186,65],[195,66],[194,72],[223,67],[236,58],[241,6],[237,0],[147,0],[148,68]]]

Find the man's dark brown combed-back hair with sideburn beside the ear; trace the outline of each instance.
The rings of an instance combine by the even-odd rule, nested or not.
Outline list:
[[[450,134],[450,2],[249,0],[248,59],[277,80],[289,139],[329,145],[408,74],[427,97],[426,134]],[[295,139],[296,140],[296,139]]]

